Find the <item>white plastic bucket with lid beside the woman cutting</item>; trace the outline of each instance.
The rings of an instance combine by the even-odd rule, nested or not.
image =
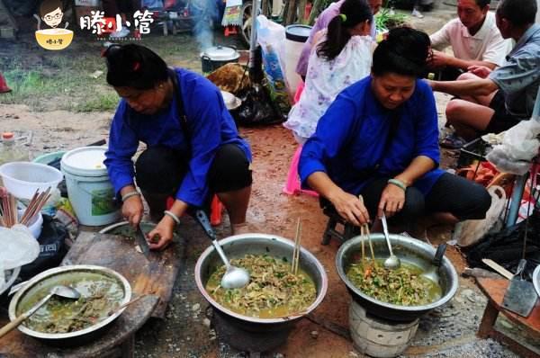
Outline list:
[[[120,219],[114,188],[103,164],[104,147],[83,147],[68,151],[60,162],[66,177],[67,196],[79,223],[108,225]]]

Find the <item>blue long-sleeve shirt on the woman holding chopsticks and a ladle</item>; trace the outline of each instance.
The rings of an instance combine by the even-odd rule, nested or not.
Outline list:
[[[410,99],[390,111],[375,99],[371,82],[367,76],[347,87],[320,118],[302,148],[298,173],[304,186],[311,174],[324,172],[344,191],[358,194],[378,176],[402,173],[415,157],[429,157],[438,166],[437,109],[431,88],[417,80]],[[387,143],[396,116],[399,124]],[[433,169],[414,186],[426,194],[443,173]]]

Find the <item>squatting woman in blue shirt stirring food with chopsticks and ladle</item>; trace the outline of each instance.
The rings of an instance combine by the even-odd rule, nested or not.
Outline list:
[[[394,223],[425,213],[482,219],[491,205],[482,185],[438,169],[435,98],[419,80],[429,51],[425,33],[390,31],[374,51],[371,76],[338,95],[303,147],[302,183],[355,225],[383,212]]]

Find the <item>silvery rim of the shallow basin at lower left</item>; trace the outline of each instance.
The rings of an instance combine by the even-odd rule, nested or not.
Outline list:
[[[51,268],[51,269],[49,269],[47,271],[44,271],[44,272],[39,273],[38,275],[32,277],[31,280],[29,280],[28,283],[26,283],[23,286],[23,288],[21,288],[21,290],[19,290],[19,291],[17,291],[15,293],[14,298],[9,303],[9,319],[10,319],[10,321],[14,321],[14,319],[17,318],[17,316],[16,316],[17,306],[20,303],[21,297],[27,291],[29,291],[37,283],[42,282],[43,280],[47,279],[48,277],[57,275],[58,273],[68,273],[70,271],[91,271],[91,272],[103,273],[103,274],[106,274],[108,276],[112,276],[112,277],[116,278],[119,282],[121,282],[121,285],[123,286],[123,289],[124,289],[124,297],[121,300],[121,302],[119,302],[119,305],[122,305],[124,303],[129,302],[130,299],[131,299],[132,291],[131,291],[130,282],[128,282],[128,280],[126,280],[126,278],[123,275],[121,275],[121,273],[117,273],[116,271],[114,271],[114,270],[112,270],[110,268],[103,267],[103,266],[98,266],[98,265],[94,265],[94,264],[74,264],[74,265],[67,265],[67,266],[59,266],[59,267]],[[80,330],[75,331],[75,332],[69,332],[69,333],[43,333],[43,332],[34,331],[34,330],[32,330],[32,329],[30,329],[28,327],[24,327],[23,325],[19,325],[19,327],[17,327],[17,329],[19,329],[21,332],[23,332],[27,336],[33,336],[33,337],[36,337],[36,338],[49,339],[49,340],[67,339],[67,338],[85,336],[85,335],[87,335],[89,333],[92,333],[94,331],[97,331],[97,330],[101,329],[102,327],[105,327],[105,326],[109,325],[114,319],[118,318],[125,309],[127,309],[127,307],[124,307],[123,309],[120,309],[118,312],[114,313],[113,315],[111,315],[108,318],[105,318],[105,319],[99,321],[97,324],[94,324],[93,326],[86,327],[85,329],[80,329]]]

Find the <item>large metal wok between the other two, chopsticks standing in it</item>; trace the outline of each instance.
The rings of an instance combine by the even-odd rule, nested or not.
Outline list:
[[[266,234],[243,234],[227,237],[220,240],[225,254],[231,258],[240,258],[246,254],[262,255],[267,254],[275,257],[291,258],[294,251],[294,242],[284,237]],[[208,300],[214,309],[229,318],[229,322],[249,331],[269,332],[272,330],[284,329],[291,326],[295,321],[310,313],[319,306],[324,299],[328,288],[328,278],[322,264],[308,250],[302,248],[300,252],[300,268],[308,273],[315,282],[317,288],[317,298],[306,309],[302,315],[290,316],[288,318],[252,318],[240,315],[213,300],[205,290],[206,282],[218,267],[223,263],[213,246],[208,247],[197,260],[195,265],[195,282],[202,296]]]

